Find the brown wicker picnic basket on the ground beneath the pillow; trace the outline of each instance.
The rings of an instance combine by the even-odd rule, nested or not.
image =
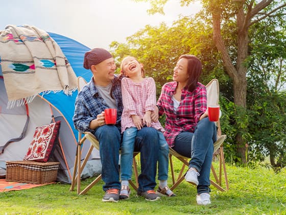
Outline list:
[[[45,184],[57,180],[59,162],[6,161],[6,181]]]

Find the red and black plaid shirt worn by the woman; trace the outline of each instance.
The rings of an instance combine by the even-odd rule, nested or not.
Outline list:
[[[164,136],[170,147],[175,145],[175,138],[180,132],[194,133],[201,115],[206,111],[206,87],[200,82],[193,92],[182,89],[181,102],[174,113],[172,96],[175,93],[177,82],[165,83],[157,102],[159,115],[165,113],[166,123]]]

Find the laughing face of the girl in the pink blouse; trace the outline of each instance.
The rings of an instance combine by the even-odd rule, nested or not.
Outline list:
[[[128,77],[141,77],[142,65],[136,60],[135,57],[126,57],[122,60],[121,69]]]

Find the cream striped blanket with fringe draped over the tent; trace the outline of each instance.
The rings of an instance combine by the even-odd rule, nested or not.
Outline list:
[[[77,77],[55,40],[32,26],[0,31],[0,59],[8,107],[30,102],[39,93],[76,89]]]

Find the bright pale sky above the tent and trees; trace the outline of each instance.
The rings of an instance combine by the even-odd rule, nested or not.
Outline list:
[[[179,15],[192,15],[201,9],[198,1],[181,7],[169,0],[165,15],[149,15],[150,3],[132,0],[7,0],[1,6],[0,31],[7,25],[31,25],[47,32],[75,39],[89,48],[109,49],[112,41],[125,42],[146,25],[171,26]]]

